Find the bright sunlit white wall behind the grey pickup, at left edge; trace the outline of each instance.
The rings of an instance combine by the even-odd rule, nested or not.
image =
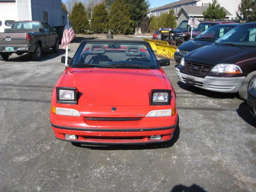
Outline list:
[[[4,24],[6,20],[19,20],[15,2],[0,2],[0,21],[2,22],[0,32],[4,32],[5,28],[10,28]]]

